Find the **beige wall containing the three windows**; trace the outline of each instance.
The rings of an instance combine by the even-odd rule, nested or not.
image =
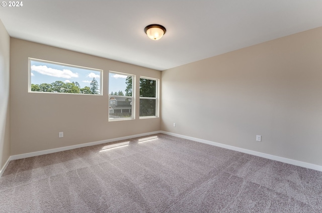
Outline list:
[[[108,48],[108,47],[107,47]],[[28,57],[102,69],[103,96],[28,93]],[[11,39],[11,155],[158,131],[160,119],[108,122],[109,71],[160,79],[159,71]],[[136,94],[136,99],[139,94]],[[64,137],[59,138],[58,132]]]

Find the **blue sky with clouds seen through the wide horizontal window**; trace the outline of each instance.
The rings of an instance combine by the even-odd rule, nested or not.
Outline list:
[[[62,81],[65,83],[78,82],[81,88],[85,86],[90,87],[93,78],[101,84],[101,72],[97,70],[89,70],[86,68],[77,68],[64,66],[59,64],[51,64],[47,62],[33,61],[31,66],[31,83],[53,83],[55,81]]]

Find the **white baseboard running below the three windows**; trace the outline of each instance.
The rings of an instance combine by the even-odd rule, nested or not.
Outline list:
[[[43,155],[43,154],[50,154],[54,152],[60,152],[60,151],[66,151],[70,149],[77,149],[77,148],[82,148],[86,146],[94,146],[94,145],[99,145],[103,143],[110,143],[114,141],[119,141],[119,140],[127,140],[135,137],[142,137],[142,136],[147,136],[147,135],[152,135],[152,134],[157,134],[160,133],[160,131],[155,131],[155,132],[147,132],[147,133],[142,133],[142,134],[136,134],[136,135],[130,135],[130,136],[125,136],[125,137],[118,137],[118,138],[112,138],[112,139],[107,139],[107,140],[100,140],[100,141],[95,141],[95,142],[90,142],[90,143],[82,143],[82,144],[77,144],[77,145],[72,145],[72,146],[64,146],[60,148],[55,148],[55,149],[47,149],[43,151],[37,151],[37,152],[30,152],[26,154],[17,154],[17,155],[12,155],[10,156],[9,160],[17,160],[17,159],[22,159],[26,157],[34,157],[38,155]]]

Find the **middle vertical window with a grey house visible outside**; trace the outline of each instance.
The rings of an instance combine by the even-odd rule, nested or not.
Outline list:
[[[110,72],[109,121],[134,119],[134,76]]]

